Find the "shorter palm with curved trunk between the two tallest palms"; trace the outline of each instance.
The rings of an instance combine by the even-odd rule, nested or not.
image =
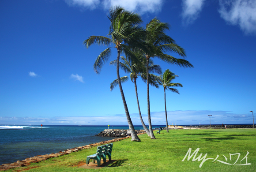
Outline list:
[[[137,54],[138,56],[138,61],[135,63],[132,60],[129,60],[127,58],[124,58],[123,56],[121,56],[122,61],[119,62],[120,68],[123,69],[126,73],[130,73],[130,76],[123,76],[121,77],[121,82],[126,82],[128,81],[128,77],[130,77],[130,79],[132,80],[132,82],[134,82],[134,87],[135,87],[135,93],[136,93],[136,98],[137,98],[137,105],[138,105],[138,110],[139,110],[139,118],[140,118],[140,122],[144,128],[144,130],[146,131],[147,135],[150,136],[150,132],[147,128],[147,126],[145,125],[143,118],[141,116],[141,112],[140,112],[140,107],[139,107],[139,98],[138,98],[138,90],[137,90],[137,82],[136,79],[140,76],[142,78],[142,80],[144,82],[146,82],[147,80],[147,76],[146,76],[146,65],[145,63],[143,63],[145,61],[145,58],[141,55],[141,54]],[[117,65],[117,60],[111,61],[110,64],[112,65]],[[150,60],[149,62],[149,71],[150,72],[155,72],[158,74],[162,74],[162,69],[159,65],[153,64],[153,61]],[[157,76],[155,76],[154,74],[150,74],[149,75],[149,83],[152,86],[155,86],[158,88],[158,84],[156,82],[156,78]],[[115,79],[111,84],[110,84],[110,90],[112,91],[113,88],[115,86],[118,85],[117,79]]]

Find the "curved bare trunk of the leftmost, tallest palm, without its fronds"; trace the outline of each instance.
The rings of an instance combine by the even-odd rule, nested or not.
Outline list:
[[[122,88],[122,85],[121,85],[121,80],[120,80],[120,75],[119,75],[120,53],[121,53],[121,51],[118,49],[117,50],[117,81],[118,81],[120,93],[121,93],[121,96],[122,96],[122,99],[123,99],[124,110],[125,110],[125,114],[126,114],[126,117],[127,117],[129,129],[131,131],[132,141],[140,142],[140,139],[139,139],[138,135],[136,134],[135,129],[133,127],[132,120],[131,120],[131,117],[130,117],[130,114],[129,114],[129,111],[128,111],[128,107],[127,107],[127,104],[126,104],[126,101],[125,101],[123,88]]]

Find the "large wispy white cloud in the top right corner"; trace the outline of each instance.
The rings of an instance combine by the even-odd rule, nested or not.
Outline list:
[[[256,0],[219,0],[221,17],[239,25],[245,34],[256,34]]]

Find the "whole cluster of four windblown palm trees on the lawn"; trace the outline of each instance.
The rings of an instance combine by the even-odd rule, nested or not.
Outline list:
[[[110,62],[110,64],[117,67],[117,79],[111,83],[110,89],[112,90],[115,86],[119,86],[125,114],[128,120],[128,126],[131,131],[132,141],[139,142],[140,139],[133,127],[121,83],[127,81],[128,77],[130,77],[132,82],[134,82],[139,108],[136,79],[140,76],[144,82],[147,82],[147,111],[149,129],[147,129],[143,122],[140,108],[139,116],[145,131],[152,139],[154,139],[155,137],[151,125],[149,84],[156,87],[158,87],[158,84],[163,85],[164,90],[167,89],[176,93],[178,93],[178,91],[170,87],[182,85],[180,83],[171,83],[172,79],[177,77],[177,75],[174,75],[173,73],[171,73],[171,79],[165,78],[170,76],[167,74],[170,72],[169,70],[165,71],[161,77],[152,74],[161,74],[162,69],[160,66],[153,64],[151,59],[157,57],[169,64],[176,64],[181,67],[193,66],[187,60],[177,59],[166,54],[167,52],[174,52],[181,57],[186,56],[184,49],[177,45],[171,37],[166,35],[165,30],[169,30],[168,23],[161,22],[160,20],[154,18],[146,25],[146,28],[143,28],[142,26],[139,26],[139,24],[141,24],[143,21],[138,14],[126,11],[120,6],[110,8],[108,18],[111,22],[109,34],[106,37],[90,36],[83,43],[87,48],[93,44],[108,46],[108,48],[101,52],[95,60],[93,67],[97,74],[100,73],[102,66],[111,57],[111,48],[117,49],[117,59]],[[125,58],[120,56],[121,54],[124,54]],[[120,77],[119,68],[123,69],[127,73],[130,73],[130,76]],[[169,81],[169,83],[166,81]]]

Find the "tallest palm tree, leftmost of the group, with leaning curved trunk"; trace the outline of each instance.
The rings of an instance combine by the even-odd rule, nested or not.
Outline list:
[[[119,75],[119,60],[121,53],[124,53],[128,58],[136,58],[132,55],[131,52],[136,51],[138,48],[142,48],[143,41],[141,40],[145,38],[145,30],[138,26],[138,24],[142,22],[138,14],[126,11],[120,6],[110,8],[108,18],[110,20],[108,37],[90,36],[83,42],[83,44],[86,45],[87,48],[93,44],[110,46],[101,52],[95,60],[93,67],[97,74],[99,74],[102,66],[106,63],[106,61],[109,60],[111,56],[110,48],[117,49],[117,81],[124,104],[124,110],[129,129],[131,131],[132,141],[140,142],[140,139],[137,136],[132,124],[132,120],[130,118],[128,107],[125,101]]]

